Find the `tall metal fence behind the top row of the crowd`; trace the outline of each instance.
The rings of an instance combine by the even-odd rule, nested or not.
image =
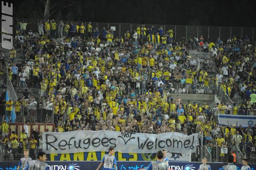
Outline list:
[[[38,23],[43,21],[43,19],[28,19],[28,18],[18,18],[18,21],[26,22],[27,31],[32,29],[32,31],[38,31]],[[58,24],[59,21],[55,20]],[[88,22],[82,21],[63,21],[64,23],[84,23],[85,27],[87,26]],[[15,23],[17,25],[17,23]],[[124,33],[129,31],[133,34],[133,31],[142,24],[139,23],[98,23],[98,22],[91,22],[91,26],[95,28],[98,26],[99,30],[101,31],[103,27],[106,29],[113,29],[115,32],[115,36],[122,37]],[[232,38],[235,35],[236,38],[240,38],[242,35],[243,38],[246,36],[249,38],[250,42],[253,43],[256,39],[256,28],[252,27],[224,27],[224,26],[184,26],[184,25],[160,25],[160,24],[144,24],[147,29],[151,28],[154,25],[156,31],[162,26],[164,32],[168,32],[169,29],[173,30],[174,39],[180,41],[184,39],[187,41],[189,38],[198,38],[200,35],[205,38],[205,40],[209,39],[209,41],[217,41],[218,38],[221,38],[222,41],[227,42],[228,38]]]

